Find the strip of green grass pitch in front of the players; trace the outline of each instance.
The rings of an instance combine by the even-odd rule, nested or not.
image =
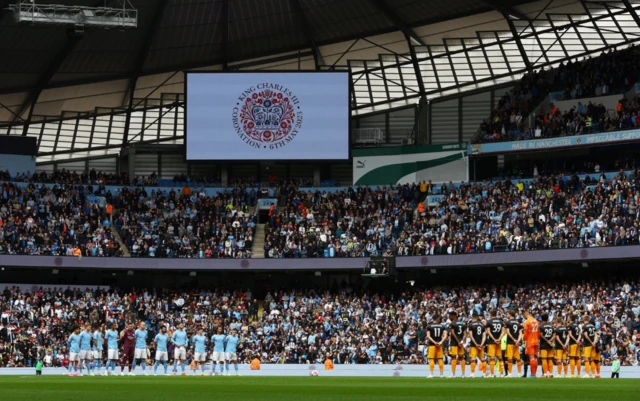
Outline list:
[[[640,400],[640,380],[402,377],[0,377],[12,401]]]

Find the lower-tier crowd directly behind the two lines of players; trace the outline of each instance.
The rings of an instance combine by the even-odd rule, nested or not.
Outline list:
[[[149,338],[161,326],[175,331],[185,324],[211,335],[218,327],[240,334],[238,357],[248,363],[422,364],[427,324],[449,313],[470,323],[473,314],[486,323],[491,311],[504,319],[525,309],[536,318],[549,314],[568,324],[573,315],[589,316],[599,333],[602,362],[618,357],[623,365],[640,360],[640,283],[634,280],[591,283],[529,283],[467,288],[407,288],[399,294],[371,294],[348,286],[337,292],[284,290],[257,301],[246,291],[122,292],[117,289],[6,288],[0,298],[0,366],[67,366],[71,327],[91,323],[104,331],[116,323],[146,323]],[[464,342],[465,349],[469,340]],[[153,343],[149,343],[154,355]],[[446,348],[446,347],[445,347]],[[169,349],[170,358],[173,352]],[[189,359],[191,359],[191,352]],[[468,355],[467,355],[468,356]],[[448,358],[446,358],[448,359]]]

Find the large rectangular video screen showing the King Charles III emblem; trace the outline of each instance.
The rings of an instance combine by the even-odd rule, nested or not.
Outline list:
[[[186,74],[187,160],[349,159],[347,72]]]

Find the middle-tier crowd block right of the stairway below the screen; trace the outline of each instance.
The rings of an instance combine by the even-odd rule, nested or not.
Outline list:
[[[265,257],[464,254],[638,244],[640,174],[280,190]],[[444,194],[437,206],[420,201]],[[417,205],[417,208],[414,208]]]

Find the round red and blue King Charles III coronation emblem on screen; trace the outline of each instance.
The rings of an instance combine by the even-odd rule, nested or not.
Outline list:
[[[238,96],[233,108],[233,128],[247,145],[279,149],[300,133],[303,119],[300,100],[288,88],[275,83],[251,86]]]

